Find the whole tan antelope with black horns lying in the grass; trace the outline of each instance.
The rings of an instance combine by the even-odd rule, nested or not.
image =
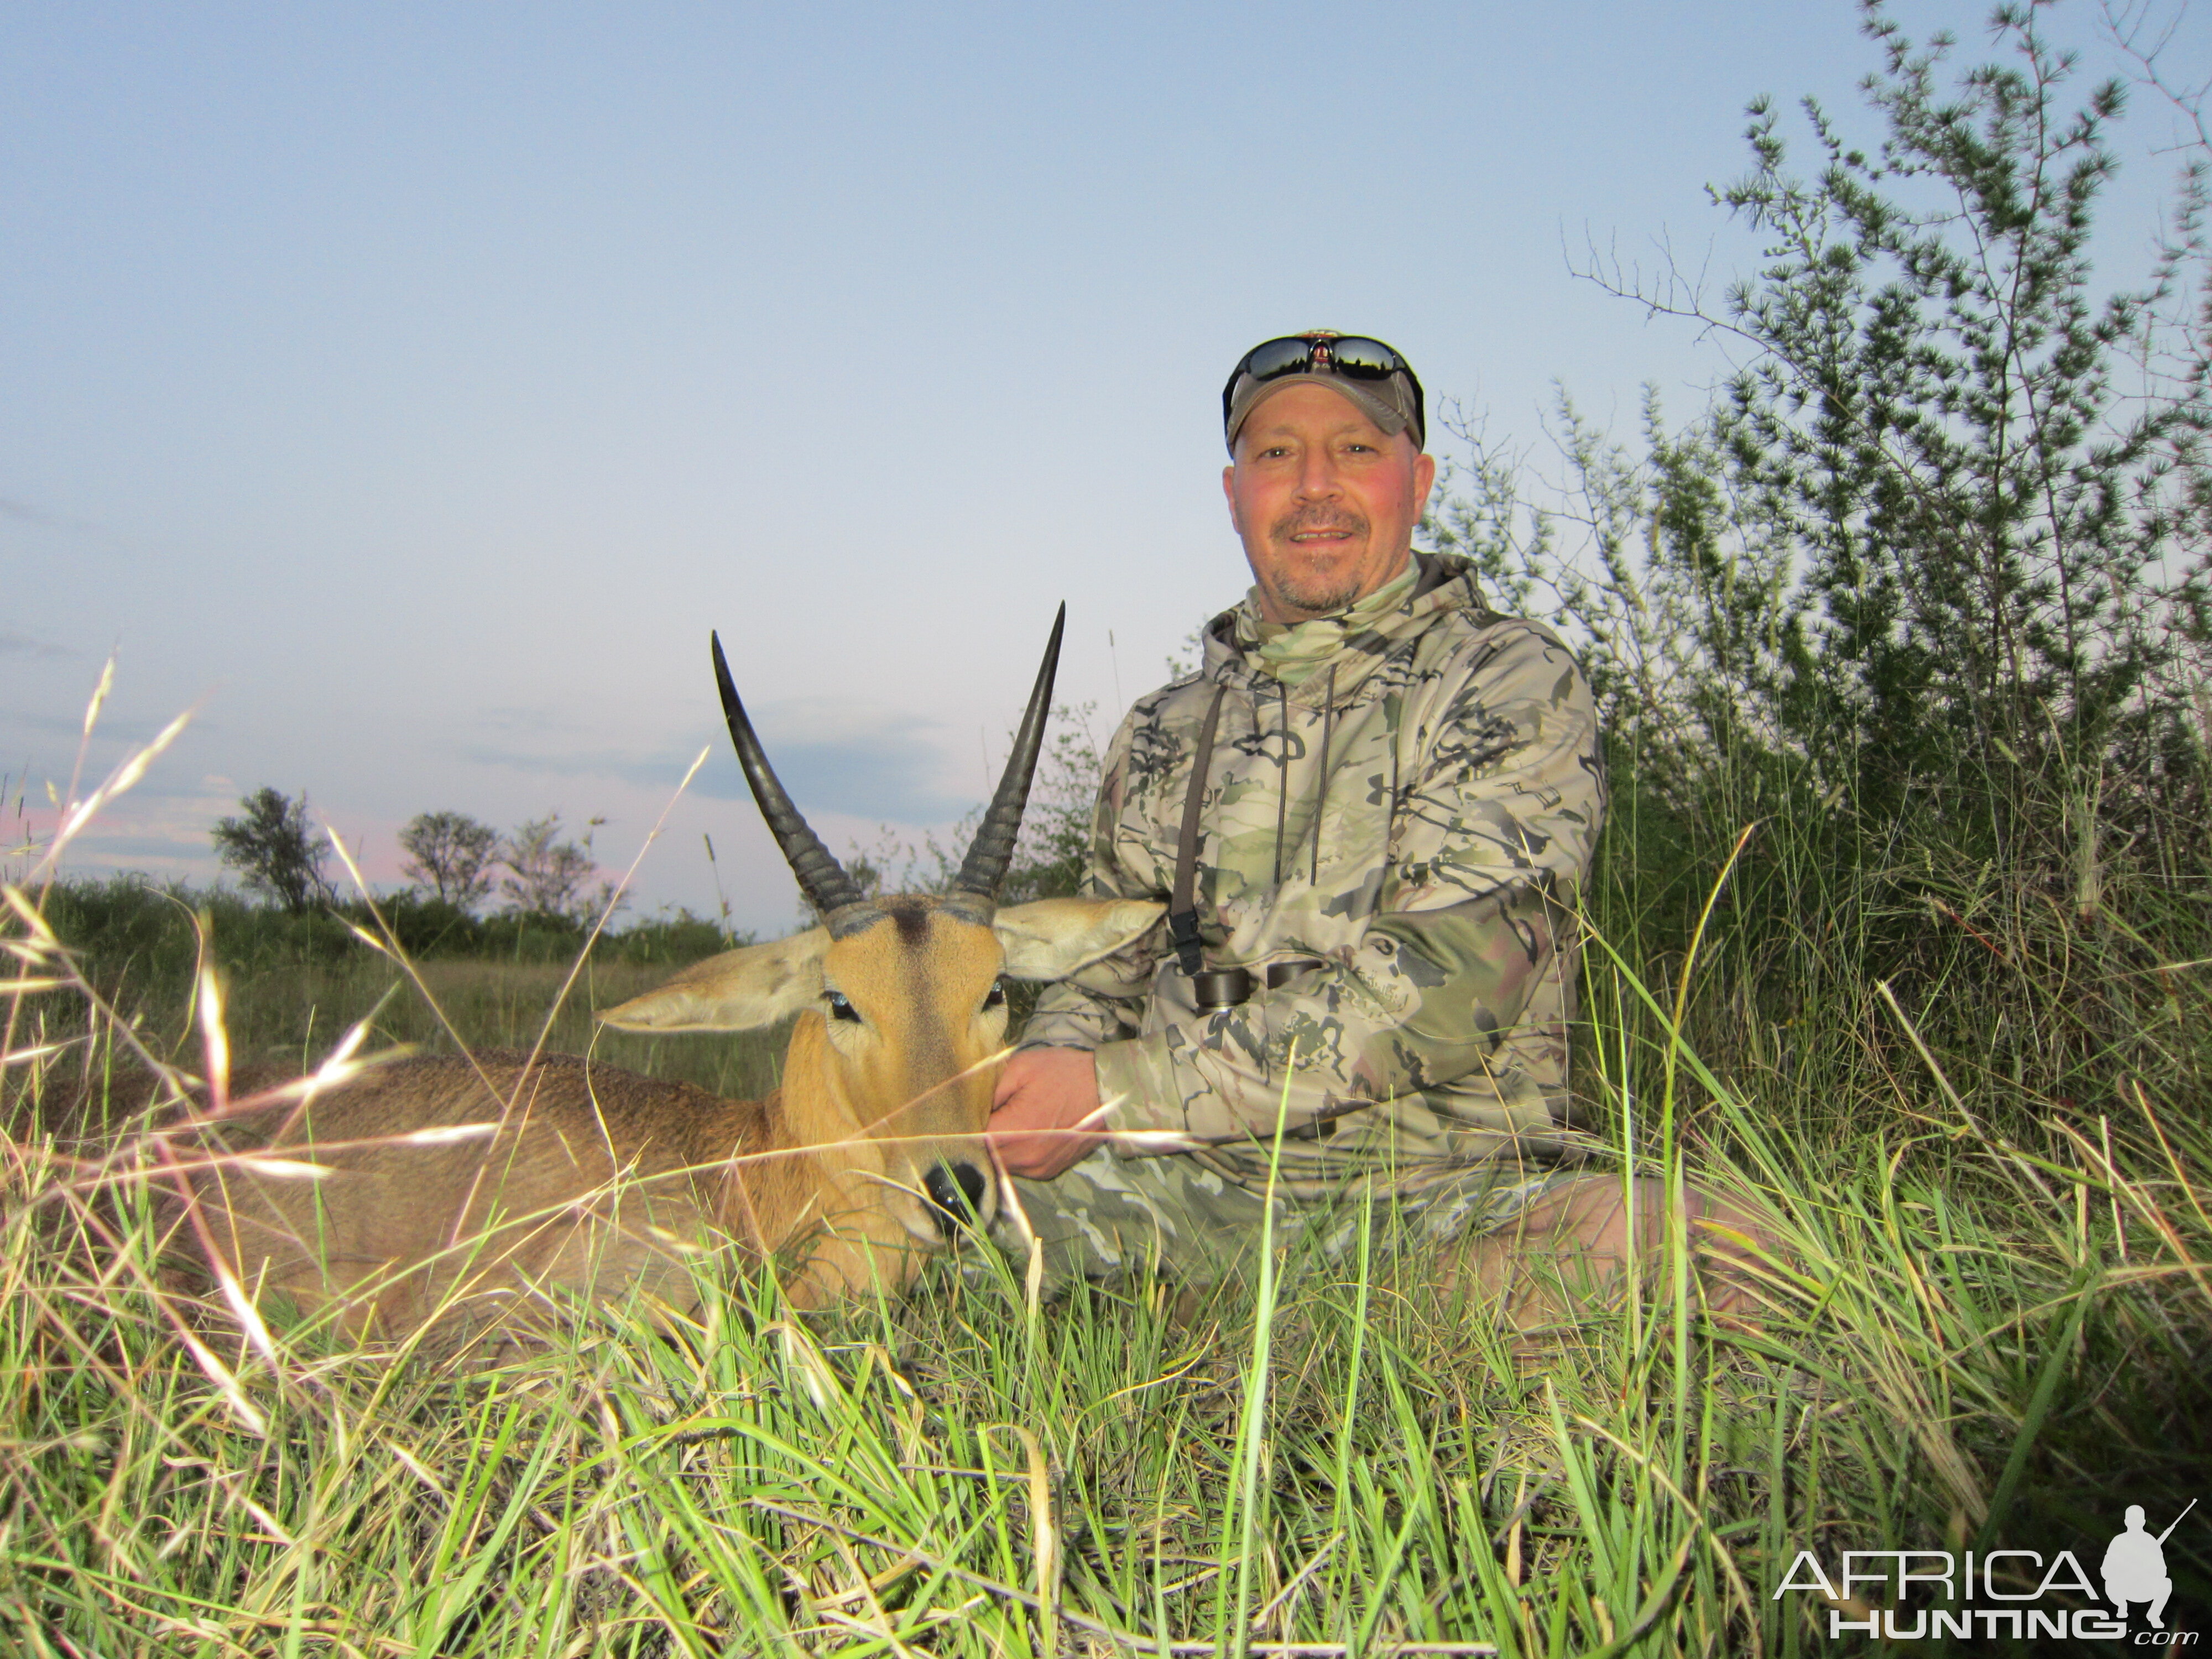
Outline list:
[[[1064,615],[951,889],[900,898],[863,896],[807,830],[714,641],[730,739],[823,925],[699,962],[602,1020],[745,1031],[799,1013],[774,1095],[719,1099],[575,1057],[524,1068],[520,1055],[400,1062],[305,1102],[294,1088],[281,1113],[210,1126],[201,1245],[248,1294],[343,1303],[354,1332],[436,1318],[467,1334],[549,1296],[633,1287],[690,1310],[692,1259],[726,1245],[776,1259],[799,1307],[905,1287],[958,1221],[998,1210],[980,1135],[1006,1046],[1004,978],[1064,978],[1161,914],[1077,898],[998,909]]]

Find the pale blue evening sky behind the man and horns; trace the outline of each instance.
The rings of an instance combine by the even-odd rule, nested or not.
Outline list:
[[[71,869],[212,878],[263,783],[380,880],[429,807],[624,865],[712,745],[637,907],[712,905],[710,832],[781,927],[708,628],[834,847],[945,825],[1057,602],[1104,734],[1243,591],[1239,352],[1378,334],[1531,445],[1553,380],[1688,416],[1719,352],[1571,265],[1747,270],[1745,100],[1874,139],[1874,62],[1840,2],[13,7],[0,823],[117,650],[88,774],[199,714]],[[2163,139],[2139,100],[2115,274]]]

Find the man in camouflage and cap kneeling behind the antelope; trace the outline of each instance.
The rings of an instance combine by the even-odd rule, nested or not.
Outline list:
[[[1610,1272],[1621,1181],[1568,1168],[1590,688],[1464,560],[1413,553],[1436,462],[1391,347],[1267,341],[1223,422],[1252,591],[1121,723],[1088,860],[1091,891],[1166,898],[1168,922],[1044,993],[1000,1159],[1055,1276],[1234,1270],[1270,1190],[1276,1234],[1323,1248],[1358,1225],[1349,1194],[1400,1239],[1517,1221]],[[1502,1290],[1511,1256],[1471,1267]]]

